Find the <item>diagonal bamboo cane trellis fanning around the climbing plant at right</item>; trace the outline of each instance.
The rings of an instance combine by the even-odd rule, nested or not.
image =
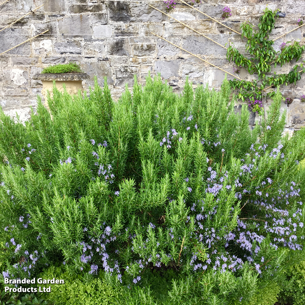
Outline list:
[[[234,32],[235,32],[235,33],[237,33],[237,34],[242,35],[241,33],[239,33],[239,32],[237,32],[237,31],[235,31],[235,30],[231,29],[230,27],[227,27],[225,24],[223,24],[223,23],[219,22],[218,20],[216,20],[216,19],[214,19],[214,18],[210,17],[209,15],[207,15],[207,14],[205,14],[205,13],[201,12],[199,9],[196,9],[196,8],[192,7],[192,5],[189,5],[189,4],[188,4],[188,3],[186,3],[185,1],[183,1],[183,0],[180,0],[180,1],[181,1],[182,3],[184,3],[184,4],[188,5],[188,6],[189,6],[189,7],[191,7],[192,9],[195,9],[195,10],[196,10],[196,11],[198,11],[199,13],[201,13],[201,14],[203,14],[203,15],[205,15],[205,16],[207,16],[207,17],[209,17],[210,19],[212,19],[212,20],[214,20],[214,21],[216,21],[217,23],[221,24],[222,26],[224,26],[224,27],[228,28],[229,30],[234,31]],[[159,11],[159,12],[163,13],[164,15],[166,15],[166,16],[168,16],[168,17],[170,17],[170,18],[174,19],[175,21],[177,21],[177,22],[181,23],[181,24],[182,24],[182,25],[184,25],[185,27],[188,27],[189,29],[193,30],[194,32],[198,33],[199,35],[202,35],[203,37],[205,37],[205,38],[207,38],[207,39],[209,39],[209,40],[213,41],[213,42],[214,42],[214,43],[216,43],[217,45],[220,45],[221,47],[223,47],[223,48],[225,48],[225,49],[228,49],[228,48],[226,48],[225,46],[223,46],[223,45],[219,44],[218,42],[214,41],[213,39],[211,39],[211,38],[207,37],[206,35],[204,35],[204,34],[202,34],[202,33],[200,33],[200,32],[198,32],[197,30],[193,29],[192,27],[189,27],[189,26],[188,26],[188,25],[186,25],[185,23],[183,23],[183,22],[181,22],[181,21],[179,21],[179,20],[175,19],[174,17],[172,17],[172,16],[168,15],[167,13],[164,13],[163,11],[161,11],[161,10],[159,10],[159,9],[157,9],[157,8],[155,8],[155,7],[153,7],[152,5],[149,5],[149,6],[150,6],[150,7],[152,7],[153,9],[156,9],[157,11]],[[300,26],[298,26],[298,27],[296,27],[295,29],[290,30],[289,32],[287,32],[287,33],[285,33],[285,34],[283,34],[283,35],[279,36],[278,38],[275,38],[273,41],[275,41],[275,40],[277,40],[277,39],[279,39],[279,38],[281,38],[281,37],[285,36],[286,34],[289,34],[289,33],[293,32],[294,30],[299,29],[300,27],[303,27],[304,25],[305,25],[305,23],[304,23],[304,24],[302,24],[302,25],[300,25]],[[151,32],[151,33],[152,33],[152,32]],[[175,44],[171,43],[170,41],[168,41],[168,40],[166,40],[166,39],[162,38],[161,36],[159,36],[159,35],[157,35],[157,34],[155,34],[155,33],[152,33],[152,34],[154,34],[154,35],[156,35],[157,37],[159,37],[159,38],[161,38],[161,39],[163,39],[163,40],[165,40],[165,41],[169,42],[170,44],[172,44],[172,45],[176,46],[177,48],[180,48],[181,50],[183,50],[183,51],[185,51],[185,52],[188,52],[187,50],[185,50],[185,49],[183,49],[183,48],[179,47],[178,45],[175,45]],[[210,64],[211,66],[214,66],[214,67],[216,67],[217,69],[219,69],[219,70],[221,70],[221,71],[224,71],[224,72],[226,72],[226,73],[228,73],[228,74],[230,74],[230,75],[234,76],[235,78],[238,78],[239,80],[242,80],[241,78],[239,78],[239,77],[237,77],[237,76],[235,76],[235,75],[233,75],[233,74],[231,74],[231,73],[229,73],[229,72],[227,72],[227,71],[225,71],[225,70],[221,69],[220,67],[215,66],[215,65],[213,65],[213,64],[211,64],[211,63],[209,63],[209,62],[208,62],[208,61],[206,61],[205,59],[203,59],[203,58],[201,58],[201,57],[199,57],[199,56],[196,56],[195,54],[193,54],[193,53],[191,53],[191,52],[188,52],[188,53],[189,53],[189,54],[191,54],[191,55],[193,55],[193,56],[195,56],[195,57],[197,57],[197,58],[199,58],[199,59],[201,59],[201,60],[203,60],[204,62],[206,62],[206,63]],[[299,71],[298,73],[301,73],[301,72],[303,72],[303,70]],[[269,87],[267,87],[267,88],[264,88],[264,89],[263,89],[263,91],[266,91],[267,89],[269,89],[269,88],[271,88],[271,87],[272,87],[272,86],[269,86]]]

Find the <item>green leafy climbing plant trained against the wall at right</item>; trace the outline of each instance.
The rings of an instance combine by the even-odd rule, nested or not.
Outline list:
[[[227,59],[233,61],[238,67],[244,67],[249,74],[257,74],[257,79],[252,81],[243,81],[234,79],[229,81],[233,89],[239,89],[238,98],[249,99],[252,104],[255,101],[262,100],[264,90],[267,87],[277,87],[282,84],[296,84],[300,80],[301,74],[305,72],[303,63],[296,64],[287,74],[271,74],[271,67],[277,65],[283,66],[291,62],[293,59],[298,61],[304,52],[304,46],[295,41],[291,45],[283,43],[281,50],[276,52],[272,45],[274,41],[269,40],[269,34],[274,29],[277,10],[272,12],[266,8],[264,15],[260,17],[258,30],[253,29],[253,25],[245,22],[241,25],[242,35],[247,38],[246,50],[250,54],[250,58],[242,55],[238,49],[232,45],[228,46]],[[287,42],[288,43],[288,42]],[[290,43],[290,41],[289,41]],[[273,97],[274,91],[266,94],[267,97]],[[251,106],[250,106],[251,107]],[[258,107],[252,107],[253,111],[258,111]],[[258,111],[262,114],[262,109]]]

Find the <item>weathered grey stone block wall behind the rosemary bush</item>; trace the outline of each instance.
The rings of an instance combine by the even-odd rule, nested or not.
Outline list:
[[[237,48],[245,49],[241,35],[177,2],[176,8],[169,13],[171,16],[221,45],[231,41]],[[95,75],[100,84],[106,76],[115,99],[120,96],[125,84],[132,86],[134,75],[144,84],[149,71],[151,75],[160,72],[177,92],[181,92],[187,76],[194,86],[207,83],[210,87],[218,88],[221,85],[223,71],[181,51],[151,32],[233,74],[233,66],[227,61],[224,48],[149,6],[165,12],[163,0],[9,0],[0,6],[0,29],[41,4],[44,6],[0,32],[2,53],[49,30],[0,56],[2,109],[11,115],[17,111],[23,120],[29,116],[29,107],[37,104],[36,95],[42,89],[41,82],[33,80],[32,76],[50,64],[69,61],[81,63],[82,69],[91,77],[83,82],[85,88],[94,83]],[[284,18],[278,18],[270,38],[295,28],[299,18],[303,18],[305,23],[304,0],[202,0],[195,7],[239,31],[240,24],[245,20],[257,24],[267,4],[270,9],[280,9],[286,14]],[[225,5],[231,8],[232,16],[222,21]],[[282,42],[300,41],[304,40],[303,37],[305,26],[276,40],[275,49],[279,50]],[[285,73],[290,69],[291,66],[286,65],[277,68],[277,72]],[[247,80],[253,77],[247,75],[246,70],[242,70],[239,76]],[[281,88],[285,97],[294,99],[287,109],[287,128],[298,129],[305,125],[305,105],[299,99],[300,95],[305,94],[304,84],[305,75],[296,86]],[[282,108],[287,106],[283,103]],[[253,116],[251,123],[254,123]]]

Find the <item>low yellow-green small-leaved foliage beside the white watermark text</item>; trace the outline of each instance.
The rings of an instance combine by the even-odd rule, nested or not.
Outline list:
[[[52,284],[51,292],[38,293],[45,300],[55,301],[56,305],[112,305],[116,304],[116,299],[121,298],[119,289],[112,289],[105,283],[102,271],[98,277],[88,280],[81,275],[69,275],[63,267],[51,266],[39,274],[39,277],[64,280],[64,284]]]

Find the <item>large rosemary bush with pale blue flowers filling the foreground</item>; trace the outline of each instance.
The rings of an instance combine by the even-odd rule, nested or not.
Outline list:
[[[246,305],[262,289],[275,302],[304,244],[305,130],[282,137],[279,91],[253,130],[227,80],[180,96],[135,78],[118,102],[106,81],[53,93],[52,118],[40,100],[26,126],[0,114],[4,277],[61,261],[157,304],[153,271],[171,269],[162,304]]]

